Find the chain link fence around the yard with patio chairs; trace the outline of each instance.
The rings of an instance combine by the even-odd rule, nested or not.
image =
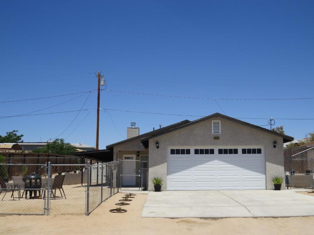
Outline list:
[[[89,215],[118,192],[119,162],[0,164],[0,214]]]

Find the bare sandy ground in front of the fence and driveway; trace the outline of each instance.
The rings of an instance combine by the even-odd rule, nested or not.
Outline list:
[[[103,202],[89,216],[3,216],[0,234],[304,234],[314,229],[314,217],[167,219],[141,218],[146,194],[138,194],[126,213],[111,213],[124,194]]]

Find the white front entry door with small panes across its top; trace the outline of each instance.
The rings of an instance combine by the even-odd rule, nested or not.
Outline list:
[[[136,184],[135,155],[123,155],[122,161],[122,185],[135,186]]]

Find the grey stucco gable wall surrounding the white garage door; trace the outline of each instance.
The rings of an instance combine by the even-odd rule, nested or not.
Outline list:
[[[220,134],[212,134],[212,120],[221,121]],[[214,140],[214,136],[219,136],[219,140]],[[277,142],[276,148],[273,148],[274,140]],[[159,142],[159,149],[156,148],[156,141]],[[265,147],[267,189],[273,188],[271,182],[273,176],[284,177],[283,138],[223,118],[212,118],[149,139],[149,179],[161,177],[164,180],[163,190],[167,189],[168,146],[224,145],[263,145]],[[150,180],[149,190],[153,190]]]

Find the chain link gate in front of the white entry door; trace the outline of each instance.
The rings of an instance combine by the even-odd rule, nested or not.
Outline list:
[[[120,160],[120,190],[148,190],[148,160]]]

